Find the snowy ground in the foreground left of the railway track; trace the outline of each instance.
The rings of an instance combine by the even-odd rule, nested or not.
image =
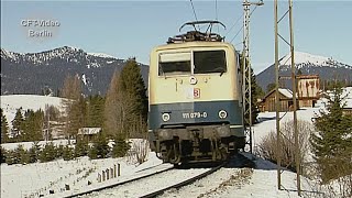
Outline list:
[[[107,168],[120,164],[121,176],[106,183],[98,183],[98,174]],[[25,197],[34,195],[48,196],[50,190],[55,194],[51,197],[63,197],[87,188],[97,188],[111,183],[127,180],[147,167],[161,165],[155,154],[150,153],[148,161],[140,166],[128,158],[89,160],[80,157],[75,161],[57,160],[48,163],[34,163],[28,165],[1,164],[1,197]],[[169,165],[164,165],[169,166]],[[91,183],[88,186],[88,180]],[[65,185],[70,190],[65,191]]]

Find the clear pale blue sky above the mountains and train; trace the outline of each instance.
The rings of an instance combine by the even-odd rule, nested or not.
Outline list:
[[[274,63],[274,6],[273,1],[264,1],[264,6],[250,9],[254,10],[250,21],[250,55],[254,73],[258,74]],[[278,18],[287,10],[287,1],[279,0]],[[352,65],[351,11],[352,1],[294,0],[295,50]],[[66,45],[118,58],[136,57],[138,62],[148,64],[151,50],[180,34],[182,24],[196,21],[196,16],[221,21],[227,29],[215,30],[242,51],[243,7],[239,0],[4,0],[1,1],[1,48],[35,53]],[[55,25],[29,25],[29,20],[45,20]],[[279,34],[289,41],[288,15],[278,28]],[[31,31],[52,36],[31,36]],[[288,45],[280,40],[279,56],[288,53]]]

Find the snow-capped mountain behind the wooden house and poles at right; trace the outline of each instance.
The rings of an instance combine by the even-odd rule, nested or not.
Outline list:
[[[352,81],[352,66],[338,62],[332,57],[323,57],[302,52],[295,52],[296,72],[302,75],[319,75],[323,80],[345,80]],[[290,76],[290,54],[279,59],[279,76]],[[267,85],[275,82],[275,64],[267,67],[256,76],[257,84],[266,91]],[[282,80],[282,87],[290,88],[290,80]]]

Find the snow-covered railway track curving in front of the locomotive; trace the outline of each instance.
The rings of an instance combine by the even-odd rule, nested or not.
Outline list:
[[[180,189],[189,186],[196,180],[202,179],[208,175],[213,174],[220,168],[232,167],[253,167],[251,162],[245,156],[239,154],[229,162],[220,164],[211,168],[167,168],[153,174],[144,175],[131,180],[118,183],[114,185],[87,190],[84,193],[75,194],[67,197],[157,197],[170,189]]]

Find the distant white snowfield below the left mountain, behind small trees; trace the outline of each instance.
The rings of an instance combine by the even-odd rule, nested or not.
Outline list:
[[[19,108],[22,107],[23,113],[28,109],[34,111],[45,109],[45,106],[61,107],[63,98],[50,97],[50,96],[37,96],[37,95],[6,95],[0,96],[1,109],[8,119],[9,127],[11,128],[11,121],[14,119],[14,114]]]

